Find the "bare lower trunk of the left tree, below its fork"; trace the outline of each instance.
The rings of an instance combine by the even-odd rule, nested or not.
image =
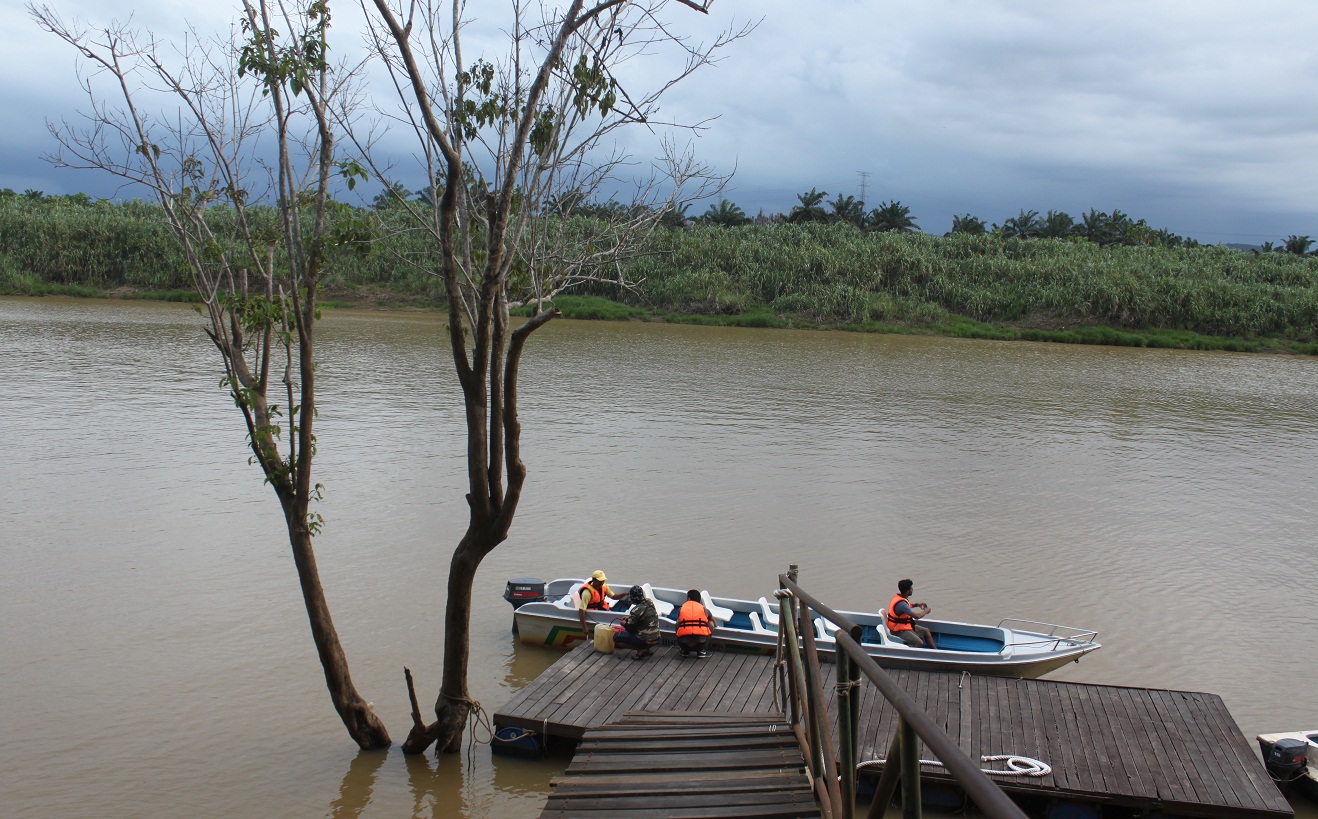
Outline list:
[[[362,750],[389,748],[389,732],[376,712],[352,684],[348,674],[348,658],[339,642],[339,633],[330,617],[324,588],[320,586],[320,572],[316,568],[316,555],[311,550],[311,534],[301,521],[289,521],[289,541],[293,545],[293,562],[298,567],[298,580],[302,584],[302,600],[307,605],[307,620],[311,622],[311,638],[320,654],[320,666],[326,673],[326,686],[330,699],[344,727]]]

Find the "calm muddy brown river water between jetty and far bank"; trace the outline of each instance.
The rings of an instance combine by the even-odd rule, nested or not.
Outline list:
[[[457,388],[440,317],[320,339],[318,555],[401,740],[465,521]],[[0,299],[0,814],[538,815],[564,758],[356,752],[217,365],[187,307]],[[1313,359],[559,320],[522,417],[489,711],[558,657],[515,645],[507,578],[758,597],[795,562],[837,608],[911,576],[936,616],[1098,629],[1053,678],[1215,692],[1251,743],[1318,725]]]

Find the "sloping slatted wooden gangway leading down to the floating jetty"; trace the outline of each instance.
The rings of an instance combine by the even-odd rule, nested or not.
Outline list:
[[[780,713],[630,712],[588,729],[540,819],[818,816]]]

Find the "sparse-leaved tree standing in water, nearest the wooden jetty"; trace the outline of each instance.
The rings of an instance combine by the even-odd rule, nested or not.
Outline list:
[[[484,29],[500,32],[507,50],[469,58],[464,34],[473,21],[461,0],[372,1],[376,45],[402,100],[394,116],[415,133],[432,181],[422,203],[397,204],[428,233],[427,255],[438,258],[430,269],[444,286],[467,411],[469,517],[449,561],[436,719],[422,719],[409,675],[414,725],[403,744],[409,753],[431,743],[453,752],[474,706],[467,686],[472,583],[507,538],[526,480],[517,381],[523,347],[558,315],[556,294],[585,282],[627,286],[623,262],[638,241],[679,200],[716,194],[721,179],[666,141],[654,173],[633,181],[631,206],[593,208],[609,214],[594,219],[572,211],[612,199],[634,167],[614,148],[618,129],[675,125],[659,117],[663,94],[750,26],[701,44],[676,30],[689,12],[708,13],[710,0],[511,0]],[[481,13],[498,13],[493,5],[481,4]],[[663,61],[666,50],[673,62]],[[643,69],[631,65],[638,61]],[[510,310],[518,307],[529,318],[514,326]]]

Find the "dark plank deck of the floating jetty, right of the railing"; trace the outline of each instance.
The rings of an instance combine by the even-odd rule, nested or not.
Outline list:
[[[825,666],[825,683],[832,687]],[[1011,794],[1152,807],[1182,816],[1293,816],[1226,703],[1215,694],[888,671],[971,758],[1019,754],[1045,777],[992,779]],[[896,712],[861,694],[861,760],[887,754]],[[931,758],[921,745],[921,758]],[[999,764],[999,768],[1002,764]],[[874,768],[876,775],[882,768]],[[941,769],[923,775],[950,781]]]

